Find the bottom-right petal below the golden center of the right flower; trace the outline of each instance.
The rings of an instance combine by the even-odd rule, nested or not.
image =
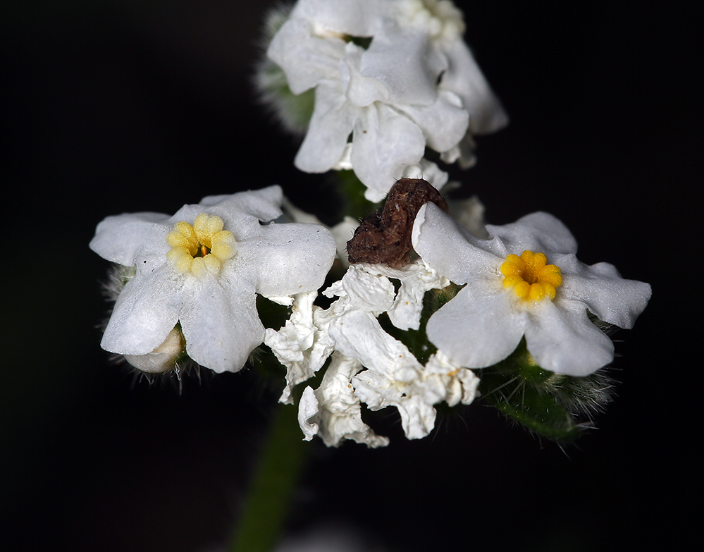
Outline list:
[[[526,345],[540,367],[588,376],[613,360],[614,344],[589,321],[585,309],[566,309],[550,301],[540,306],[526,324]]]

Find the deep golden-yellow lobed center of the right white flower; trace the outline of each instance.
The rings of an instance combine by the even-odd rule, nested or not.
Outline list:
[[[504,287],[512,288],[524,301],[540,301],[545,297],[555,299],[557,288],[562,285],[560,266],[546,264],[544,253],[525,250],[521,256],[508,254],[501,265]]]

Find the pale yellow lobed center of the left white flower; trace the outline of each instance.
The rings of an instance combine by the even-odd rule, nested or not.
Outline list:
[[[193,226],[185,221],[175,223],[166,236],[171,245],[166,258],[184,274],[190,272],[198,278],[219,274],[223,262],[234,257],[236,244],[233,233],[223,226],[223,219],[207,213],[196,216]]]

